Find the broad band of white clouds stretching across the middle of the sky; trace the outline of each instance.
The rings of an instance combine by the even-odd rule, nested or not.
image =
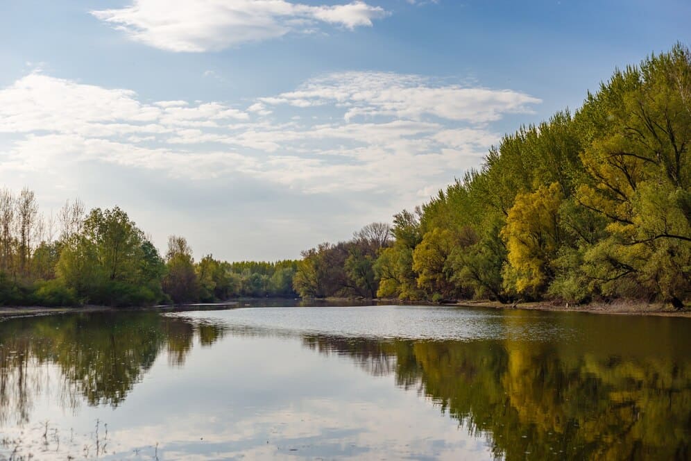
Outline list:
[[[539,101],[510,90],[430,82],[398,74],[333,74],[243,111],[216,101],[143,103],[130,90],[33,73],[0,90],[0,133],[24,133],[13,156],[26,156],[36,168],[41,162],[28,159],[37,160],[37,153],[62,153],[71,160],[188,171],[191,177],[235,169],[308,191],[381,190],[423,187],[443,169],[472,166],[458,158],[475,161],[499,140],[486,122]],[[328,106],[343,116],[326,124],[256,118],[280,103],[304,110]],[[356,112],[368,120],[356,123]],[[382,179],[382,171],[395,172],[395,178]],[[327,177],[338,181],[327,184]]]

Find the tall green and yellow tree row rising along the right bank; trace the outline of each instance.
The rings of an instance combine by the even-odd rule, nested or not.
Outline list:
[[[504,136],[480,169],[395,215],[391,244],[303,253],[294,286],[302,296],[681,307],[691,290],[690,144],[691,53],[677,44],[616,70],[574,115]]]

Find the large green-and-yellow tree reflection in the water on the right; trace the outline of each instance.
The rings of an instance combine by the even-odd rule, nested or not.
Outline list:
[[[669,319],[654,323],[670,326]],[[585,348],[330,335],[303,342],[320,353],[348,355],[375,376],[394,373],[398,386],[418,389],[470,433],[487,435],[496,458],[688,460],[688,337],[666,337],[662,347],[642,338],[608,331]]]

